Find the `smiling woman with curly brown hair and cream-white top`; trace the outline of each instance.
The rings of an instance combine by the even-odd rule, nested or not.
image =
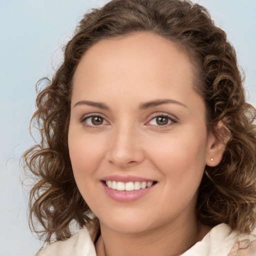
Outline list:
[[[48,83],[24,154],[32,227],[60,240],[39,256],[255,255],[255,110],[206,9],[112,0]]]

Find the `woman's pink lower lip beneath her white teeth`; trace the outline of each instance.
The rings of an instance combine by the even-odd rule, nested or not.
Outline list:
[[[137,189],[132,191],[119,191],[116,189],[109,188],[106,186],[103,182],[102,186],[105,191],[105,193],[113,200],[118,202],[132,202],[140,199],[144,195],[146,195],[154,186],[151,185],[149,187],[143,188],[143,189]]]

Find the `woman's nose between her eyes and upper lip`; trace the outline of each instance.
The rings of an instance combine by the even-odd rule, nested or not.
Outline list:
[[[115,130],[109,141],[106,157],[110,164],[118,168],[129,168],[143,161],[141,136],[135,128]]]

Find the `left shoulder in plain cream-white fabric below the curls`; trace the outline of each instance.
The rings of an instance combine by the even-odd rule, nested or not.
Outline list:
[[[68,239],[49,243],[36,256],[96,256],[96,253],[90,234],[83,226]]]

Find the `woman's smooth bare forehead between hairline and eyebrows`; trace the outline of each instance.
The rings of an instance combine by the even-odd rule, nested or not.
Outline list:
[[[85,89],[87,95],[102,98],[107,94],[118,97],[120,93],[157,98],[180,89],[189,96],[193,76],[189,57],[174,43],[152,33],[137,32],[92,45],[75,70],[72,97],[79,97]]]

